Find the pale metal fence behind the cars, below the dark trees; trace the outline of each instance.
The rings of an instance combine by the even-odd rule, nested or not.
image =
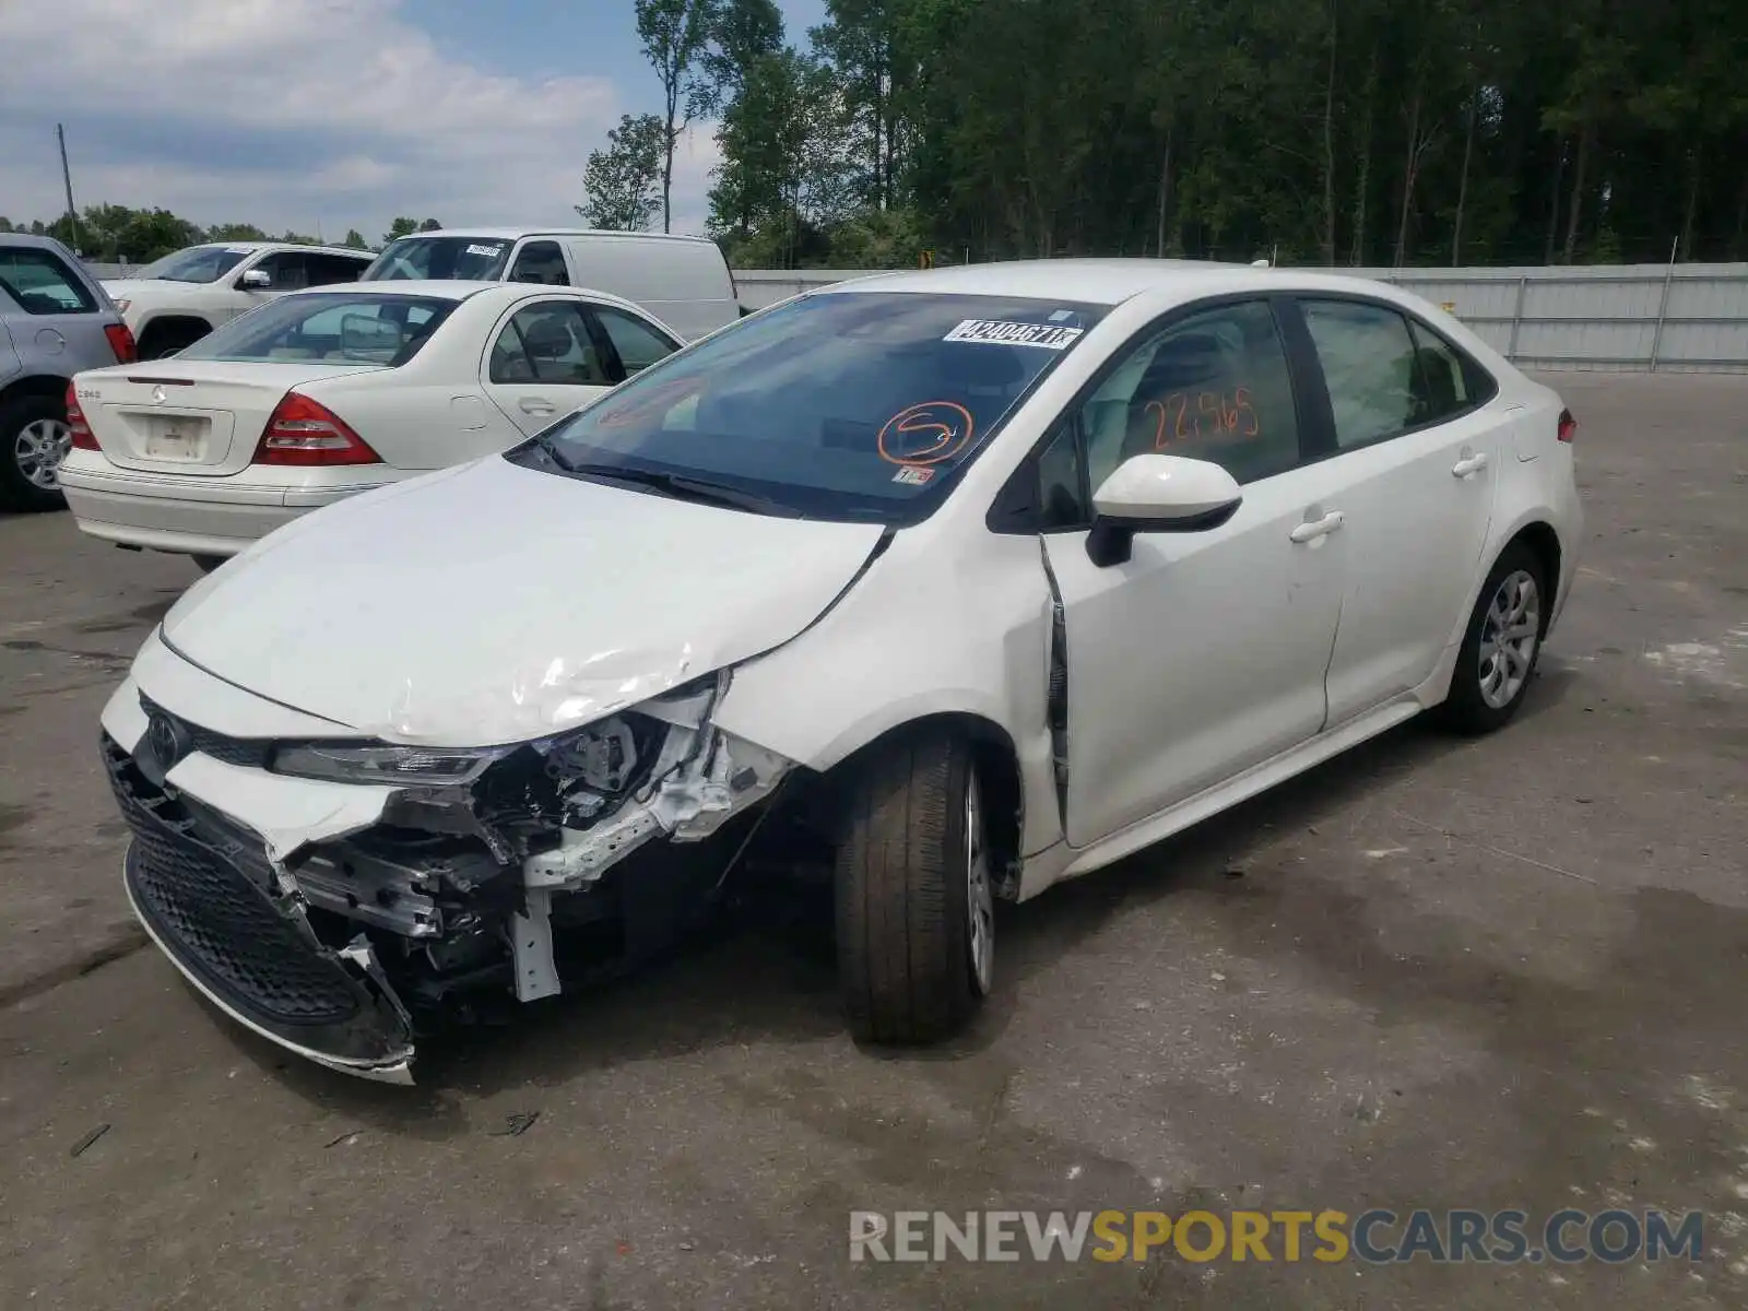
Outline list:
[[[1530,369],[1748,372],[1748,264],[1335,269],[1449,308]],[[867,269],[736,269],[741,302],[865,278]]]

